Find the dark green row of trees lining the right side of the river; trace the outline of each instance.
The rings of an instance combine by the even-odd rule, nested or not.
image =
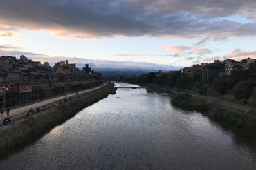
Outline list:
[[[200,94],[207,91],[221,95],[229,94],[237,99],[254,98],[256,100],[256,63],[251,63],[248,69],[233,67],[230,76],[212,74],[208,79],[201,80],[201,75],[161,74],[157,77],[154,72],[138,78],[125,78],[125,81],[150,83],[170,88],[190,89]]]

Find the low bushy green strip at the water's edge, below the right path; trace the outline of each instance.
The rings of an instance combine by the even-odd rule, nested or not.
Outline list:
[[[237,114],[234,111],[228,111],[228,109],[212,107],[208,103],[205,103],[203,99],[194,98],[190,94],[181,94],[177,96],[172,100],[172,105],[189,111],[199,111],[203,114],[208,114],[213,118],[225,120],[226,122],[237,125],[238,127],[246,127],[256,131],[255,118],[248,118],[248,116]]]

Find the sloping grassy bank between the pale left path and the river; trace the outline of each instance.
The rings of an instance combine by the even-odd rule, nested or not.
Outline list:
[[[106,98],[109,94],[115,94],[116,88],[113,88],[113,83],[108,83],[101,89],[95,90],[81,95],[77,98],[63,105],[53,107],[40,114],[35,114],[32,118],[24,118],[8,126],[0,128],[0,156],[6,151],[23,145],[28,140],[37,136],[42,136],[53,129],[56,125],[64,123],[64,121],[72,118],[79,111],[93,105],[102,98]]]

